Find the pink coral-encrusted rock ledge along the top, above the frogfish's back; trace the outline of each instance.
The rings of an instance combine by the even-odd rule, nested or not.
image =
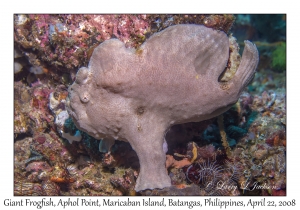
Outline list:
[[[234,19],[233,15],[16,14],[14,39],[39,72],[47,66],[66,72],[85,65],[94,48],[110,38],[118,38],[127,47],[138,47],[147,37],[171,25],[204,24],[228,33]],[[19,63],[16,67],[16,72],[21,70]]]

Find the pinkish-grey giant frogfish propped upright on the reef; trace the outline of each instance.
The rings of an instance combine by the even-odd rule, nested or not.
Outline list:
[[[70,115],[79,129],[97,139],[131,144],[140,161],[136,191],[169,187],[165,133],[174,124],[227,111],[252,79],[258,51],[245,41],[236,74],[219,83],[228,58],[227,35],[200,25],[171,26],[137,50],[107,40],[69,87]]]

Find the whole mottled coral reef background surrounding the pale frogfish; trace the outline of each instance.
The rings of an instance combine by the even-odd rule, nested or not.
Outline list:
[[[15,14],[14,18],[14,195],[286,195],[285,15]],[[223,128],[217,117],[168,128],[162,151],[171,186],[136,192],[141,169],[137,153],[127,142],[99,141],[78,130],[66,110],[67,89],[78,67],[86,66],[105,40],[117,38],[141,56],[143,43],[178,24],[204,25],[228,35],[228,61],[219,82],[230,81],[238,72],[242,40],[255,43],[260,62],[253,81],[223,113]],[[186,106],[184,100],[178,101]],[[139,119],[147,111],[138,109]],[[139,125],[137,129],[145,129]],[[79,134],[81,140],[76,141]],[[225,134],[231,154],[222,145]],[[208,181],[212,185],[207,186]],[[223,189],[217,189],[220,183]]]

